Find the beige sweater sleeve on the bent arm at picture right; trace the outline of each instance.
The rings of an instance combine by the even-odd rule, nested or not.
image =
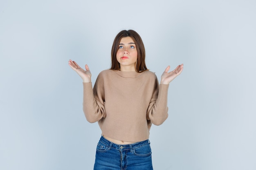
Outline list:
[[[156,79],[154,92],[147,110],[147,119],[152,124],[161,125],[168,117],[168,87],[168,84],[159,85]]]

